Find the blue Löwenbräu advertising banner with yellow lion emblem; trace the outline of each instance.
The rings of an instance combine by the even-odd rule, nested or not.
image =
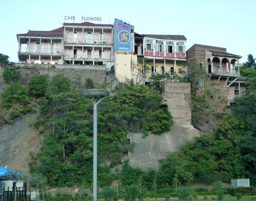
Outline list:
[[[116,50],[131,51],[131,25],[116,19]]]

